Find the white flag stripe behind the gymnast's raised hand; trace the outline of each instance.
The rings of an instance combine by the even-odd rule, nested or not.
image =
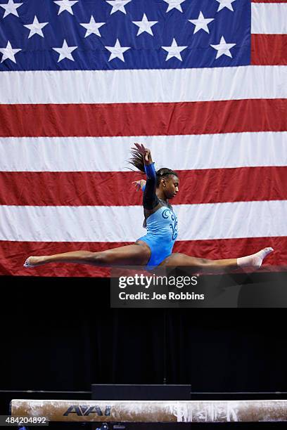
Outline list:
[[[287,132],[109,138],[0,138],[1,171],[127,171],[135,141],[174,170],[287,166]]]

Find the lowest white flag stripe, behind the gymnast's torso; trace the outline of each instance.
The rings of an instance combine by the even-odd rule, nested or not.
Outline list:
[[[287,200],[174,205],[179,240],[287,236]],[[133,242],[142,207],[0,207],[0,240]],[[268,245],[268,244],[267,244]]]

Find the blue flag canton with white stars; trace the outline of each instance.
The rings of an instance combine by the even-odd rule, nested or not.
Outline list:
[[[0,0],[0,70],[250,64],[250,0]]]

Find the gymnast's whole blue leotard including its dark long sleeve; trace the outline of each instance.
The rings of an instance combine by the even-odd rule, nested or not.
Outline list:
[[[151,258],[147,266],[158,266],[164,259],[172,254],[174,242],[177,239],[177,215],[172,206],[160,200],[155,194],[156,173],[153,164],[145,166],[146,186],[144,188],[144,209],[152,210],[158,206],[153,214],[146,219],[146,235],[139,237],[151,249]]]

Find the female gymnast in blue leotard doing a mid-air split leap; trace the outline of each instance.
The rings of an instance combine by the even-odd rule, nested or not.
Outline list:
[[[155,171],[151,151],[140,143],[132,148],[131,164],[146,172],[144,187],[144,226],[146,235],[139,237],[133,245],[117,247],[101,252],[73,251],[63,254],[30,256],[24,263],[27,268],[42,266],[46,263],[81,263],[92,266],[190,266],[196,272],[233,271],[249,267],[257,269],[263,259],[273,251],[261,249],[256,254],[238,259],[209,260],[196,258],[178,252],[172,254],[177,239],[177,215],[168,202],[179,192],[177,174],[167,168]],[[136,181],[140,184],[140,181]],[[141,183],[142,185],[142,183]]]

